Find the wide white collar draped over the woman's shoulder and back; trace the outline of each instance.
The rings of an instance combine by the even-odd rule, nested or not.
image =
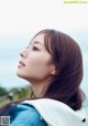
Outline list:
[[[84,108],[73,111],[66,104],[50,98],[24,101],[22,103],[33,105],[48,126],[88,126],[88,115]],[[86,122],[81,122],[85,118]]]

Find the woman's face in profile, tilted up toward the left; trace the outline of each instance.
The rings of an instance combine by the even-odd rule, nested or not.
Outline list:
[[[35,36],[30,46],[21,52],[18,76],[26,81],[44,81],[53,74],[52,55],[44,46],[44,34]]]

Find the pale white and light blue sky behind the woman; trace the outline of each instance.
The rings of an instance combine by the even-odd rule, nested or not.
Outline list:
[[[84,81],[88,91],[88,4],[65,4],[64,0],[0,0],[0,85],[23,87],[16,76],[20,52],[42,29],[55,29],[73,36],[84,56]]]

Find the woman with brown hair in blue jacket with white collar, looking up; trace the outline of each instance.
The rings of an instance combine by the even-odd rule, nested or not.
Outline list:
[[[18,76],[29,81],[32,99],[18,101],[11,126],[88,126],[82,107],[82,56],[65,33],[42,30],[21,52]]]

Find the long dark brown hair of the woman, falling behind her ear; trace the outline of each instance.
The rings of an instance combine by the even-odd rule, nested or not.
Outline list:
[[[52,54],[52,61],[56,66],[56,75],[53,76],[43,97],[61,101],[75,111],[79,109],[79,85],[82,80],[82,55],[79,45],[69,35],[56,30],[46,29],[36,35],[38,34],[44,34],[45,48]]]

